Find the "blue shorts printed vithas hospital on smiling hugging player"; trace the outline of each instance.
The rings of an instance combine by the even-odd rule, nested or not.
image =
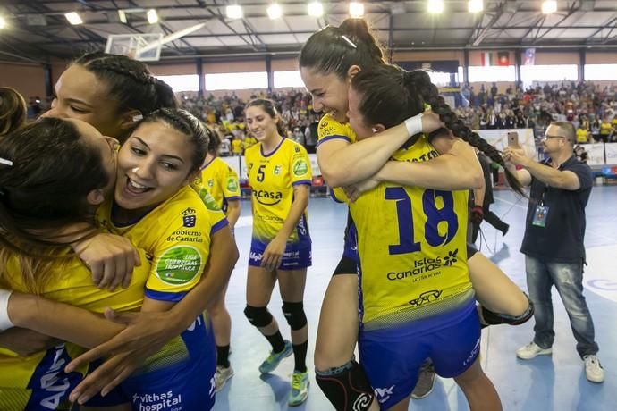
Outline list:
[[[188,349],[187,357],[173,359],[174,353],[166,345],[162,350],[165,356],[156,360],[155,371],[132,374],[106,397],[98,395],[90,399],[86,406],[111,407],[131,402],[132,409],[136,411],[212,409],[215,406],[216,371],[212,327],[209,323],[204,324],[200,315],[187,331],[182,332],[181,337]],[[166,365],[167,360],[173,364]]]

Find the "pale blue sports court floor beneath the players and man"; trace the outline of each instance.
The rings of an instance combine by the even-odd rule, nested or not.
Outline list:
[[[510,191],[496,191],[491,210],[510,223],[505,237],[486,223],[482,224],[481,250],[491,256],[511,279],[527,289],[524,257],[520,242],[525,230],[527,200]],[[586,297],[596,325],[598,356],[604,365],[603,384],[587,382],[583,362],[575,349],[568,317],[561,299],[554,293],[555,332],[553,356],[539,356],[522,361],[517,348],[533,337],[533,320],[519,327],[498,326],[483,331],[482,365],[502,398],[504,410],[521,411],[615,411],[617,410],[617,187],[596,186],[587,206]],[[270,346],[244,317],[247,260],[250,244],[250,205],[242,202],[241,221],[236,239],[241,259],[232,274],[227,292],[227,306],[232,315],[232,356],[235,375],[216,395],[215,410],[283,410],[288,409],[287,394],[293,356],[283,361],[274,373],[260,376],[258,365],[266,358]],[[308,316],[309,345],[307,364],[312,364],[319,307],[330,275],[342,252],[342,231],[346,209],[326,198],[311,198],[308,218],[313,239],[313,266],[308,270],[305,308]],[[564,222],[567,223],[567,222]],[[480,240],[478,239],[478,246]],[[277,290],[270,310],[289,338],[289,327],[281,312]],[[307,402],[293,409],[331,410],[312,376]],[[412,400],[414,410],[468,410],[461,390],[450,379],[438,378],[433,393],[425,399]]]

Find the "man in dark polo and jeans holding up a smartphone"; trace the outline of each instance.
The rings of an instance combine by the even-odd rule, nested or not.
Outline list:
[[[585,362],[590,382],[604,382],[604,369],[596,354],[594,323],[583,296],[585,262],[585,206],[593,184],[591,169],[573,153],[576,130],[570,122],[552,122],[542,140],[548,159],[528,158],[523,150],[507,147],[503,159],[523,185],[530,185],[525,236],[529,298],[536,311],[535,336],[516,355],[531,359],[552,354],[554,317],[551,288],[555,286],[565,306],[577,351]],[[514,165],[522,166],[516,171]]]

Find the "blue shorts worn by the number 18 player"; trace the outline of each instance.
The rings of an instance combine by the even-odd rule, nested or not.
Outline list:
[[[414,322],[398,328],[360,331],[360,364],[382,409],[393,407],[411,394],[425,359],[431,358],[435,372],[444,378],[461,375],[476,361],[480,354],[480,323],[475,301],[461,310],[462,318],[456,313],[459,319],[444,327],[435,328],[432,321],[434,326],[420,326],[423,330],[418,330],[418,322]]]

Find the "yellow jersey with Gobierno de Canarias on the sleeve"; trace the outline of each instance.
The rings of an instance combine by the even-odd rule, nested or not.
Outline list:
[[[180,301],[199,282],[210,238],[227,225],[223,212],[209,209],[190,186],[137,222],[115,224],[113,213],[113,202],[106,201],[97,210],[98,225],[146,251],[153,262],[146,297],[162,301]]]

